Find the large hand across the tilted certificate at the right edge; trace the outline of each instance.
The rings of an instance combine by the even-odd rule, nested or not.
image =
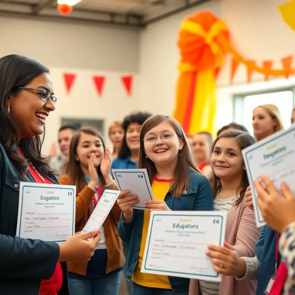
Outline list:
[[[286,183],[282,182],[280,196],[276,187],[266,176],[261,177],[265,189],[260,181],[254,181],[257,191],[257,204],[264,221],[277,232],[283,230],[295,221],[295,198]]]

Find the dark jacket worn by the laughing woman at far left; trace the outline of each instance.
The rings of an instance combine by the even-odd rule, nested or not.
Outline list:
[[[15,237],[19,203],[20,173],[0,143],[0,294],[38,295],[41,279],[49,279],[58,262],[59,246],[54,242]],[[47,176],[46,176],[47,177]],[[49,178],[54,183],[56,179]],[[58,295],[69,295],[66,263],[63,286]]]

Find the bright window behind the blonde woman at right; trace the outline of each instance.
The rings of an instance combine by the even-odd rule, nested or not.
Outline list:
[[[252,111],[261,104],[274,104],[281,112],[284,128],[291,126],[291,114],[294,107],[294,90],[271,93],[236,96],[234,99],[234,121],[244,125],[253,135]]]

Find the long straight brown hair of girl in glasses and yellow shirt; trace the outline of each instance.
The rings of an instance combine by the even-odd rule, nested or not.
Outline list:
[[[189,144],[186,139],[186,135],[179,122],[170,116],[155,115],[148,118],[142,125],[142,130],[140,132],[140,154],[138,168],[147,169],[150,184],[152,185],[154,177],[157,173],[155,164],[145,156],[144,149],[144,137],[145,135],[154,127],[158,126],[160,123],[167,121],[175,129],[175,134],[179,139],[183,138],[183,148],[178,152],[178,162],[176,169],[173,173],[173,183],[171,184],[172,196],[180,197],[183,191],[186,190],[189,183],[189,177],[187,169],[190,168],[193,171],[200,172],[198,166],[196,165],[196,160],[191,153]]]

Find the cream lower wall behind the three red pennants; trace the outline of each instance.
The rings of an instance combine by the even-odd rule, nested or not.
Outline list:
[[[76,73],[76,80],[70,94],[66,94],[63,83],[63,73]],[[139,79],[136,73],[94,71],[74,68],[50,68],[54,81],[54,93],[58,101],[55,111],[51,112],[46,119],[46,135],[42,147],[43,153],[47,154],[52,142],[57,140],[57,130],[61,126],[62,118],[101,119],[104,120],[104,135],[106,143],[107,129],[114,120],[122,120],[125,114],[131,110],[137,110],[137,97],[139,96]],[[121,76],[133,75],[132,95],[128,96]],[[94,75],[106,76],[102,96],[99,97],[94,86]]]

